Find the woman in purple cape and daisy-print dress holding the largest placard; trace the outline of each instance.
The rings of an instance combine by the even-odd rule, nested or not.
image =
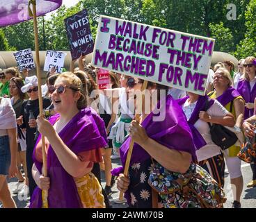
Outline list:
[[[141,90],[141,87],[142,82],[136,79],[134,89]],[[122,174],[123,167],[113,170],[113,174],[119,176],[118,189],[125,192],[129,207],[136,208],[153,206],[152,189],[147,183],[153,167],[152,158],[166,169],[179,173],[185,173],[195,158],[191,130],[177,102],[172,96],[166,96],[168,87],[149,82],[147,93],[141,121],[131,122],[130,136],[120,148],[125,167],[129,144],[134,139],[129,176]]]

